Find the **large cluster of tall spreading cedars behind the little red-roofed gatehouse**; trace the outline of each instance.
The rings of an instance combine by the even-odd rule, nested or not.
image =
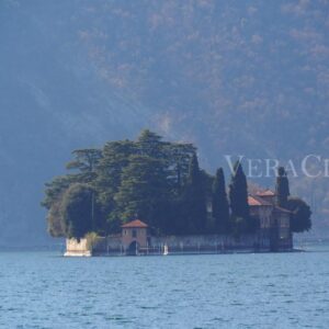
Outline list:
[[[76,183],[92,186],[91,227],[98,234],[118,232],[123,222],[137,215],[157,232],[183,232],[183,192],[194,152],[191,144],[162,141],[147,129],[136,141],[109,141],[102,150],[75,150],[67,164],[73,173],[46,184],[42,205],[48,209],[49,234],[75,231],[75,223],[66,223],[59,209],[67,202],[67,190]],[[207,177],[205,185],[209,185],[208,175],[203,174]]]

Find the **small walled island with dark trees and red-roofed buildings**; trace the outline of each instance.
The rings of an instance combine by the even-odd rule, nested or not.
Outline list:
[[[72,155],[42,202],[48,232],[66,238],[65,256],[293,251],[293,234],[311,228],[283,167],[273,190],[249,193],[241,161],[227,186],[223,168],[200,168],[194,145],[148,129]]]

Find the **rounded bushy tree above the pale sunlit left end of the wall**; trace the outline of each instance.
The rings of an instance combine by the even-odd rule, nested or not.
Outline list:
[[[93,190],[81,183],[65,192],[60,212],[67,237],[80,239],[92,230],[92,194]]]

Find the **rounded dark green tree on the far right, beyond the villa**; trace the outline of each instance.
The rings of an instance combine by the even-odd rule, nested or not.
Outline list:
[[[309,205],[299,197],[290,197],[286,208],[293,214],[291,216],[291,230],[293,232],[308,231],[311,228],[311,211]]]

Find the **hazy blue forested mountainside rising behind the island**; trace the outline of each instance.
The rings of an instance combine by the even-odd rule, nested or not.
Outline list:
[[[0,245],[46,238],[43,184],[70,150],[141,127],[196,143],[209,170],[224,154],[328,157],[328,13],[327,0],[1,0]],[[328,179],[293,184],[326,218]]]

